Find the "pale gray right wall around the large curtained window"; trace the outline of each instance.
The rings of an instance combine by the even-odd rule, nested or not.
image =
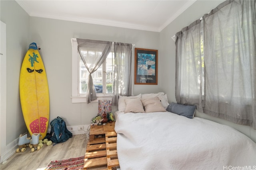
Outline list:
[[[192,6],[184,11],[178,18],[170,23],[165,29],[160,32],[160,52],[161,52],[161,67],[162,69],[162,82],[161,88],[168,95],[169,102],[176,102],[175,98],[175,43],[171,39],[178,31],[183,27],[188,26],[193,21],[201,18],[204,14],[210,12],[210,10],[216,8],[224,0],[197,0]],[[203,8],[202,8],[203,7]],[[237,125],[223,119],[211,117],[204,113],[196,111],[196,116],[205,119],[210,119],[218,123],[229,125],[234,127],[238,131],[244,133],[256,142],[256,130],[251,127]]]

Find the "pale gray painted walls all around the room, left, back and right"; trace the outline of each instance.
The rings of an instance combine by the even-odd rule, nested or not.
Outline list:
[[[67,126],[88,125],[97,113],[98,103],[71,102],[71,43],[70,38],[112,40],[133,43],[136,47],[158,49],[158,85],[134,85],[134,94],[165,92],[169,102],[175,99],[175,44],[171,37],[192,21],[200,18],[223,1],[196,1],[161,32],[141,31],[73,21],[30,17],[15,1],[2,1],[1,21],[6,23],[6,114],[1,112],[1,160],[11,154],[17,137],[26,131],[20,108],[18,81],[20,66],[28,44],[39,43],[42,49],[50,87],[50,119],[62,116]],[[202,6],[204,8],[202,8]],[[54,56],[47,58],[45,56]],[[64,59],[63,59],[64,58]],[[166,71],[167,70],[167,71]],[[167,79],[166,79],[167,77]],[[113,110],[117,108],[113,107]],[[235,127],[256,141],[256,131],[235,125],[203,113],[196,116]],[[3,119],[4,118],[4,119]],[[6,125],[6,128],[2,128]],[[8,133],[7,133],[8,132]]]

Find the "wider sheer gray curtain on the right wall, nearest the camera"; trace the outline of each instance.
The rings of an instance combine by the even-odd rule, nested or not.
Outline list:
[[[256,128],[255,0],[225,1],[203,20],[204,113]]]

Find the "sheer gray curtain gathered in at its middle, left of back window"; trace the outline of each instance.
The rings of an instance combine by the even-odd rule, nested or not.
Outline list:
[[[112,42],[110,41],[96,41],[89,39],[76,39],[78,43],[78,52],[86,66],[88,72],[88,85],[86,92],[86,101],[90,103],[96,100],[96,91],[93,84],[92,73],[95,72],[100,65],[105,61],[110,52]]]

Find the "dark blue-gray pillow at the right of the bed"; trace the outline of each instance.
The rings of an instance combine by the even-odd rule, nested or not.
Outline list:
[[[166,110],[193,119],[196,112],[196,106],[176,104],[172,102],[167,106]]]

